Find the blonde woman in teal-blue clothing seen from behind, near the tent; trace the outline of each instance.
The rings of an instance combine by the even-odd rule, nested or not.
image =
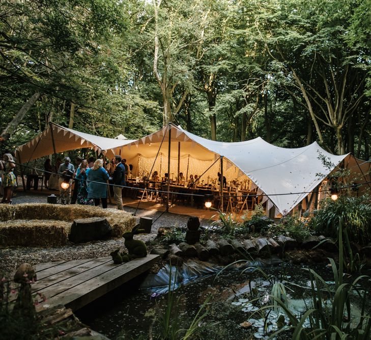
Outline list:
[[[108,172],[103,168],[103,160],[94,162],[93,168],[87,171],[88,176],[88,199],[94,199],[94,205],[99,205],[102,201],[102,207],[107,207],[107,185]]]

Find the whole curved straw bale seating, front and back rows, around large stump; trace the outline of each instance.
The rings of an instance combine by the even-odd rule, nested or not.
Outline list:
[[[0,245],[64,245],[68,241],[73,220],[89,217],[105,217],[112,227],[113,237],[121,237],[136,223],[135,217],[128,213],[91,205],[1,204]]]

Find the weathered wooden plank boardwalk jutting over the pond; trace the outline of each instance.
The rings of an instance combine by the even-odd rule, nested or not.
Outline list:
[[[159,258],[149,254],[115,265],[109,256],[38,265],[32,292],[44,295],[46,300],[37,310],[60,304],[77,310],[149,270]]]

